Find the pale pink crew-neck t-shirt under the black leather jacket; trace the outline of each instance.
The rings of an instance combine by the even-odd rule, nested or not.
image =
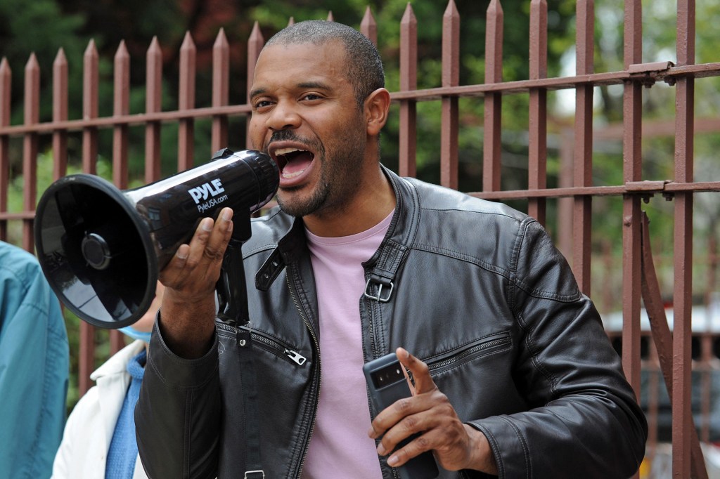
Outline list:
[[[370,429],[360,325],[365,289],[361,263],[369,260],[392,213],[364,232],[318,237],[306,230],[320,314],[320,401],[303,479],[380,478]]]

